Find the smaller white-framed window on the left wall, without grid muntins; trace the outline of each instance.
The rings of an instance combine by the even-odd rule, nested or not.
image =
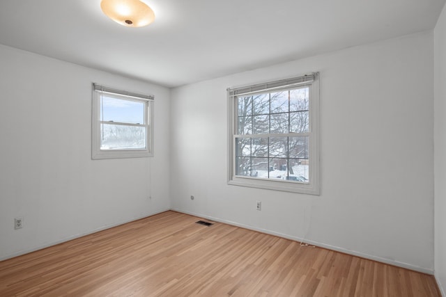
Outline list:
[[[153,155],[153,96],[93,83],[92,158]]]

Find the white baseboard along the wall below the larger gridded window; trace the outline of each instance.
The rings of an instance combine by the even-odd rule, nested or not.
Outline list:
[[[282,237],[282,238],[285,238],[285,239],[291,239],[293,241],[304,241],[305,243],[311,244],[312,246],[318,246],[319,248],[326,248],[328,250],[335,250],[337,252],[343,252],[344,254],[353,255],[353,256],[357,256],[357,257],[362,257],[364,259],[370,259],[370,260],[374,260],[376,262],[390,264],[390,265],[393,265],[393,266],[398,266],[398,267],[401,267],[401,268],[407,268],[407,269],[410,269],[410,270],[413,270],[413,271],[418,271],[418,272],[421,272],[421,273],[426,273],[426,274],[433,275],[433,269],[430,269],[430,268],[423,268],[423,267],[415,266],[415,265],[408,264],[408,263],[398,262],[398,261],[394,261],[394,260],[391,260],[391,259],[377,257],[377,256],[374,256],[374,255],[368,255],[368,254],[364,254],[362,252],[356,252],[355,250],[348,250],[346,248],[339,248],[338,246],[330,246],[329,244],[320,243],[318,241],[311,241],[311,240],[308,240],[308,239],[302,239],[302,238],[297,237],[297,236],[290,236],[290,235],[287,235],[287,234],[282,234],[282,233],[274,232],[274,231],[271,231],[271,230],[261,229],[261,228],[253,227],[253,226],[250,226],[250,225],[244,225],[244,224],[232,222],[230,220],[223,220],[222,218],[214,218],[212,216],[206,216],[206,215],[203,215],[203,214],[197,214],[197,213],[194,213],[194,212],[183,211],[181,209],[175,209],[175,208],[172,208],[171,210],[178,211],[178,212],[183,213],[183,214],[190,214],[191,216],[198,216],[200,218],[206,218],[208,220],[214,220],[215,222],[225,223],[225,224],[233,225],[233,226],[236,226],[236,227],[242,227],[242,228],[245,228],[245,229],[248,229],[248,230],[253,230],[253,231],[257,231],[257,232],[262,232],[262,233],[266,233],[266,234],[270,234],[270,235],[279,236],[279,237]],[[443,295],[443,296],[445,296],[445,295]]]

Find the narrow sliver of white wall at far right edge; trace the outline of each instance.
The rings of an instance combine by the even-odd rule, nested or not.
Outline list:
[[[446,8],[434,32],[435,276],[446,296]]]

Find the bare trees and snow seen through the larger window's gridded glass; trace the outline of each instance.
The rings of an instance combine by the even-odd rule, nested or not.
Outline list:
[[[236,175],[308,184],[309,87],[237,97],[236,104]]]

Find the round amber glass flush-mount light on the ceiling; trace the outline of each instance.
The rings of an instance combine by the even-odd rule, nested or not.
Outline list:
[[[140,0],[102,0],[102,12],[118,24],[128,27],[142,27],[155,20],[155,14]]]

